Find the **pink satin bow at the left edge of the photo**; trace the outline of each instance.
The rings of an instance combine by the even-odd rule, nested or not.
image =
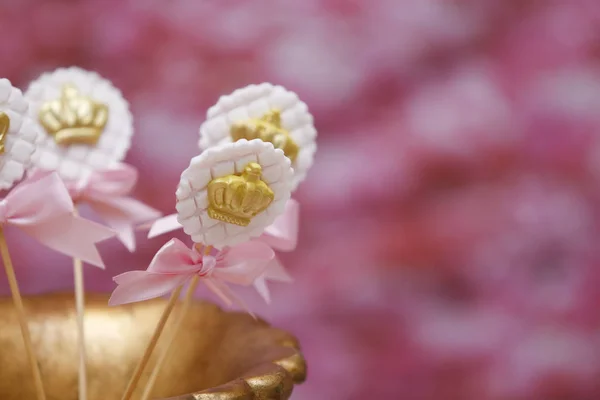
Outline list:
[[[100,268],[104,263],[95,244],[115,236],[105,226],[73,215],[71,196],[56,173],[26,179],[0,200],[0,224]]]

